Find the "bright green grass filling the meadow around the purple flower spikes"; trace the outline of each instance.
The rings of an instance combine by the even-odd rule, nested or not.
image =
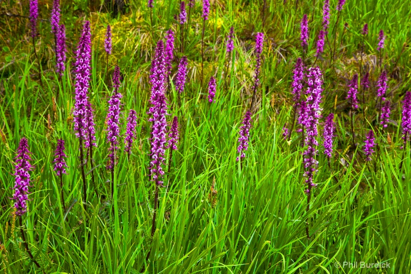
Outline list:
[[[12,1],[13,2],[13,1]],[[156,1],[157,2],[157,1]],[[42,61],[43,83],[37,78],[37,63],[28,37],[27,19],[0,17],[2,47],[0,54],[0,243],[4,245],[0,271],[5,273],[409,273],[411,271],[411,228],[409,199],[411,193],[411,160],[409,145],[403,150],[401,139],[401,101],[410,88],[409,59],[411,8],[406,1],[348,0],[337,27],[337,59],[329,66],[329,48],[317,61],[324,72],[323,116],[337,116],[337,138],[330,163],[319,147],[319,171],[315,175],[310,210],[303,184],[304,148],[301,136],[293,133],[288,144],[282,127],[292,118],[290,84],[292,69],[300,47],[300,20],[308,14],[310,44],[306,63],[315,60],[316,35],[321,27],[322,1],[267,1],[264,32],[264,66],[262,85],[258,90],[258,108],[253,114],[247,157],[236,162],[238,130],[242,116],[251,102],[254,67],[254,34],[261,31],[260,3],[222,1],[212,5],[207,25],[204,83],[217,78],[215,103],[209,104],[206,85],[199,86],[201,65],[201,5],[192,11],[191,28],[185,54],[189,59],[189,83],[181,97],[175,90],[167,98],[179,116],[180,142],[173,153],[171,166],[160,189],[157,229],[151,238],[154,207],[154,183],[148,180],[150,161],[149,105],[150,61],[155,43],[165,31],[179,30],[173,15],[178,11],[175,0],[158,1],[154,9],[154,39],[150,34],[150,16],[145,1],[131,2],[126,14],[110,18],[107,13],[90,12],[83,1],[63,1],[62,21],[66,24],[69,56],[62,82],[54,75],[53,38],[48,22],[39,22],[41,38],[37,49]],[[128,2],[127,2],[128,3]],[[336,1],[331,1],[330,32],[335,22]],[[48,3],[51,7],[51,2]],[[1,4],[11,13],[27,14],[28,5],[14,2]],[[100,7],[100,5],[99,5]],[[97,8],[97,10],[99,9]],[[42,6],[41,18],[49,10]],[[103,9],[103,11],[105,11]],[[314,12],[314,13],[313,13]],[[311,15],[314,19],[311,20]],[[90,175],[88,200],[82,203],[82,180],[78,140],[70,122],[74,106],[72,49],[78,43],[83,19],[91,20],[94,55],[90,98],[96,113],[97,148],[94,152],[96,182],[102,199],[94,193]],[[349,28],[343,33],[344,23]],[[123,74],[123,114],[137,111],[137,140],[129,161],[120,153],[116,166],[114,198],[110,197],[110,174],[105,169],[107,149],[104,119],[111,89],[105,75],[103,51],[104,28],[113,26],[112,66],[120,65]],[[391,122],[384,132],[375,120],[375,84],[367,92],[367,120],[362,112],[355,118],[357,158],[352,160],[350,116],[345,100],[347,79],[358,70],[353,54],[361,47],[360,30],[369,24],[365,51],[369,59],[377,57],[378,31],[384,29],[387,39],[384,67],[389,78],[388,98],[393,101]],[[228,88],[223,87],[226,54],[225,38],[231,25],[236,29],[235,58],[230,69]],[[331,35],[331,34],[330,34]],[[314,39],[315,37],[315,39]],[[334,34],[330,36],[330,39]],[[342,39],[341,39],[342,38]],[[342,41],[342,42],[341,42]],[[7,47],[7,48],[6,48]],[[181,53],[178,53],[181,57]],[[10,59],[12,58],[12,59]],[[395,66],[396,60],[398,63]],[[13,61],[11,61],[13,60]],[[7,65],[7,66],[6,66]],[[175,67],[175,63],[173,64]],[[379,76],[377,66],[369,66],[371,80]],[[174,68],[175,71],[175,68]],[[60,90],[57,108],[52,98]],[[337,96],[337,105],[334,99]],[[52,120],[48,129],[47,116]],[[125,118],[125,117],[124,117]],[[169,117],[170,121],[172,116]],[[324,120],[324,119],[323,119]],[[125,131],[123,119],[122,133]],[[321,126],[322,127],[322,126]],[[365,163],[362,143],[366,131],[373,129],[380,144],[376,155]],[[322,132],[322,130],[321,130]],[[392,141],[388,141],[389,133]],[[13,220],[13,158],[18,141],[27,137],[35,169],[32,178],[29,211],[23,216],[26,238],[42,270],[29,259]],[[53,152],[58,138],[66,141],[68,175],[64,179],[66,207],[60,200],[59,178],[53,172]],[[321,142],[320,142],[321,143]],[[168,151],[167,151],[168,159]],[[87,165],[86,172],[89,171]],[[166,167],[168,170],[168,167]],[[215,178],[216,205],[208,199]],[[306,237],[306,223],[311,239]],[[15,226],[15,227],[14,227]],[[7,229],[6,229],[7,227]],[[14,228],[14,229],[13,229]],[[150,259],[145,260],[151,251]],[[6,251],[7,250],[7,251]],[[388,262],[386,269],[335,267],[343,262]]]

